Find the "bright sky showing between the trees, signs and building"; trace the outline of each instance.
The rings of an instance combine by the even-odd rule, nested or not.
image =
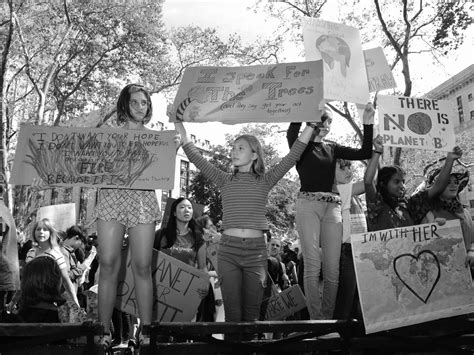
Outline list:
[[[255,2],[255,0],[166,0],[163,6],[163,21],[168,29],[186,25],[213,27],[223,37],[237,33],[248,42],[252,42],[257,36],[271,38],[278,26],[277,20],[263,15],[261,11],[258,14],[254,13],[252,7]],[[339,11],[339,0],[328,2],[327,6],[329,7],[321,18],[336,21],[332,17]],[[471,11],[473,8],[471,7]],[[474,11],[472,14],[474,15]],[[417,76],[420,78],[417,81],[417,88],[421,92],[415,94],[429,91],[473,63],[471,54],[474,45],[473,32],[474,30],[471,28],[462,48],[443,58],[436,68],[427,66],[426,60],[423,58],[411,61],[413,78],[416,79]],[[379,43],[363,44],[363,48],[373,48],[379,45]],[[286,55],[288,62],[304,61],[304,58],[299,57],[298,53],[287,51]],[[399,87],[403,87],[402,78],[396,77],[396,80]],[[159,105],[155,107],[166,107],[167,103],[164,98],[155,98],[155,100],[154,105]],[[164,116],[159,119],[167,122],[167,118]],[[332,132],[351,129],[344,122],[339,123],[341,124],[339,127],[337,122],[333,124]],[[224,134],[236,134],[241,126],[220,123],[188,123],[186,125],[188,130],[198,138],[209,139],[214,144],[223,144],[225,142]],[[174,129],[172,126],[167,128]]]

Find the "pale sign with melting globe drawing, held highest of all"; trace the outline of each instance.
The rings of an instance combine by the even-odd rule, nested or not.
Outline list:
[[[306,60],[324,62],[324,98],[365,104],[369,86],[359,30],[353,27],[302,18]]]

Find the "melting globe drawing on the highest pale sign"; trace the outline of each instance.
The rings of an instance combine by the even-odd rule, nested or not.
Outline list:
[[[351,48],[343,39],[336,36],[321,35],[316,40],[316,49],[321,53],[324,62],[333,69],[339,63],[341,74],[347,76],[351,61]]]

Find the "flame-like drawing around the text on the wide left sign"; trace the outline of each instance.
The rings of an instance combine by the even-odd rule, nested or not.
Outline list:
[[[97,134],[64,134],[54,142],[29,139],[28,147],[31,154],[25,163],[52,185],[87,181],[130,187],[153,163],[153,154],[141,141],[128,141],[120,134],[102,141]]]

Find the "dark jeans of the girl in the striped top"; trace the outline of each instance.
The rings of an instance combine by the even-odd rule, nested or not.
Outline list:
[[[264,238],[240,238],[223,234],[219,242],[217,265],[225,320],[258,320],[267,275]]]

